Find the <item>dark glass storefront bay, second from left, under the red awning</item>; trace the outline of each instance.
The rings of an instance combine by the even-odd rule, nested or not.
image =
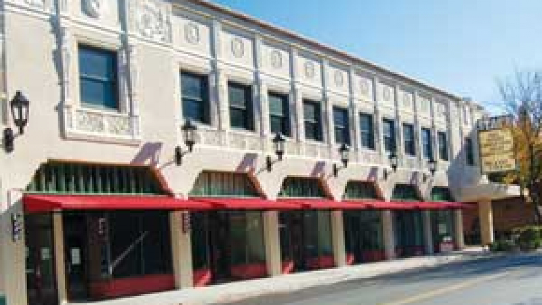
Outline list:
[[[261,212],[194,212],[191,227],[195,285],[267,275]]]

